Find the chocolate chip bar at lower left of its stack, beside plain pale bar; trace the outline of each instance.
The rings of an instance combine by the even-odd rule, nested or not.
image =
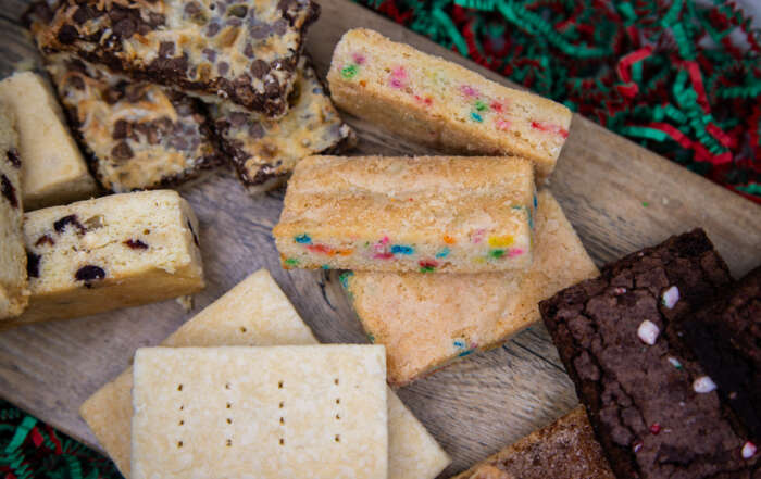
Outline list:
[[[46,61],[104,188],[128,192],[176,186],[220,162],[198,100],[129,81],[71,53]]]

